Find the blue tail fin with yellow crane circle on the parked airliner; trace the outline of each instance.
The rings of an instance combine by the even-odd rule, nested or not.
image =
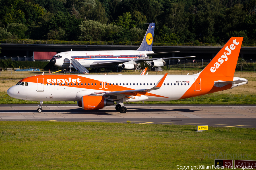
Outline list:
[[[155,29],[155,23],[152,22],[149,24],[148,30],[144,36],[141,46],[137,49],[137,51],[152,51],[154,29]]]

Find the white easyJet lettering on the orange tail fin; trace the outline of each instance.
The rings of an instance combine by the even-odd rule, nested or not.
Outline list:
[[[228,46],[226,46],[225,50],[227,50],[228,52],[224,52],[223,55],[218,59],[218,62],[214,63],[214,67],[211,67],[210,70],[212,73],[214,73],[219,67],[220,65],[225,61],[228,60],[228,56],[232,53],[232,50],[234,50],[236,48],[235,45],[238,45],[239,42],[236,42],[236,40],[233,40],[233,44],[231,44],[228,48]]]

